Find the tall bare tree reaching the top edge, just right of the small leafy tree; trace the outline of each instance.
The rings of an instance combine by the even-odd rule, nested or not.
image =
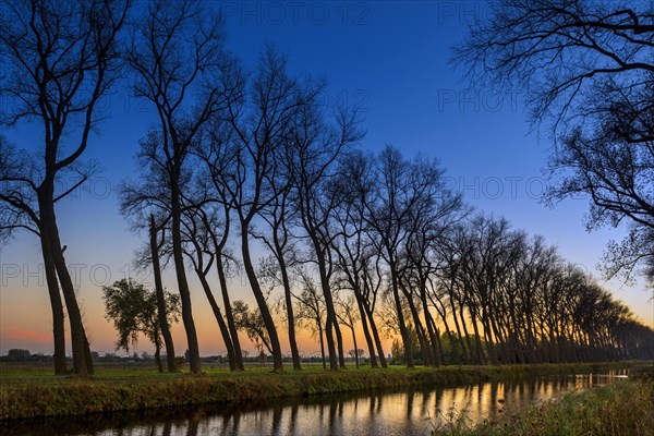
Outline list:
[[[182,250],[182,195],[187,157],[202,128],[225,108],[229,89],[221,76],[230,68],[222,49],[221,21],[201,3],[155,1],[134,25],[128,62],[137,97],[153,104],[158,141],[142,143],[142,155],[158,168],[170,199],[170,237],[190,368],[199,374],[199,349]]]

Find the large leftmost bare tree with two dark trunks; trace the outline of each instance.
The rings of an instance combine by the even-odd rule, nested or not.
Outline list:
[[[52,305],[56,372],[62,361],[63,318],[59,284],[71,325],[73,371],[93,374],[90,350],[66,269],[55,205],[93,172],[81,157],[97,125],[97,106],[117,78],[117,35],[130,1],[3,1],[0,4],[0,53],[4,74],[0,93],[14,104],[4,113],[10,125],[40,124],[43,146],[14,155],[19,167],[0,174],[0,199],[28,216],[38,230]],[[59,192],[57,181],[75,178]],[[26,196],[16,196],[20,189]],[[9,190],[9,192],[7,191]]]

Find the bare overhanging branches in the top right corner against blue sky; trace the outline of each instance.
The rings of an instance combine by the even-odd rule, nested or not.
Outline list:
[[[534,121],[556,128],[591,116],[581,101],[598,84],[642,88],[654,72],[654,11],[649,1],[510,0],[489,5],[455,59],[475,82],[520,86]]]

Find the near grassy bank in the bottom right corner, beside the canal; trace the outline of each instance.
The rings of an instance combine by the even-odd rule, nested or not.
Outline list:
[[[654,367],[640,376],[571,392],[471,426],[465,412],[441,420],[433,436],[652,436]]]

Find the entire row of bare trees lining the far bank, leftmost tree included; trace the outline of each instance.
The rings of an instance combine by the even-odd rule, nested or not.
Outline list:
[[[72,190],[58,193],[55,181],[75,174],[82,184],[92,174],[77,159],[98,99],[123,77],[156,114],[140,142],[138,181],[121,187],[121,211],[147,234],[136,261],[154,272],[169,371],[177,362],[167,266],[195,374],[202,361],[190,276],[231,370],[244,367],[239,331],[270,353],[277,371],[288,337],[300,370],[300,326],[315,330],[335,371],[346,364],[346,335],[361,354],[358,328],[374,367],[387,365],[382,338],[389,332],[401,338],[410,367],[416,348],[424,364],[444,363],[443,335],[465,363],[653,355],[651,329],[541,239],[473,213],[447,189],[437,161],[391,146],[359,149],[361,108],[326,105],[323,81],[291,74],[272,47],[245,69],[227,51],[209,4],[55,3],[8,7],[3,19],[8,77],[25,107],[13,121],[43,121],[46,137],[45,153],[32,154],[0,141],[0,230],[40,238],[58,373],[65,371],[63,303],[74,372],[93,373],[93,360],[55,219],[55,204]],[[82,136],[66,155],[61,144],[74,142],[66,136],[73,120]],[[233,300],[235,275],[247,278],[256,307]]]

